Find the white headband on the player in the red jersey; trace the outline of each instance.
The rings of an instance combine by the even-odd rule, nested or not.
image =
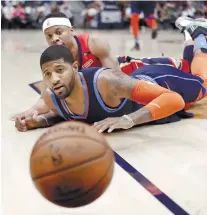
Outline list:
[[[43,24],[42,24],[42,30],[43,32],[47,29],[50,28],[52,26],[55,25],[64,25],[67,27],[72,27],[70,20],[68,18],[65,17],[51,17],[46,19]]]

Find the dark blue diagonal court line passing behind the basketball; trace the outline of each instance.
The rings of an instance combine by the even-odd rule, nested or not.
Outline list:
[[[36,83],[29,84],[38,94],[40,90],[35,86]],[[160,203],[168,208],[175,215],[190,215],[178,204],[176,204],[170,197],[163,193],[158,187],[156,187],[151,181],[149,181],[144,175],[136,170],[131,164],[124,160],[119,154],[114,152],[116,163],[124,169],[134,180],[136,180],[142,187],[151,193]]]

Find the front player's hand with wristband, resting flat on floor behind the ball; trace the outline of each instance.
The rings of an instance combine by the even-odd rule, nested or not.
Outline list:
[[[105,130],[112,132],[114,129],[129,129],[132,126],[131,122],[124,117],[111,117],[94,123],[94,127],[99,133]]]

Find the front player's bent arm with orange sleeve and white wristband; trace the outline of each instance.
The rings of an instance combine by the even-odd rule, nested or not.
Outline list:
[[[130,78],[125,74],[121,74],[121,77],[107,74],[100,78],[101,82],[105,82],[105,90],[113,92],[119,99],[127,98],[145,106],[124,117],[108,118],[95,123],[99,132],[104,130],[111,132],[118,128],[128,129],[134,125],[162,119],[182,110],[185,106],[179,94],[143,80]]]

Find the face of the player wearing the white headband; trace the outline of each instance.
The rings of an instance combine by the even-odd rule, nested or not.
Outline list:
[[[73,27],[69,28],[63,25],[53,26],[46,29],[44,34],[49,45],[67,46],[73,37]]]

